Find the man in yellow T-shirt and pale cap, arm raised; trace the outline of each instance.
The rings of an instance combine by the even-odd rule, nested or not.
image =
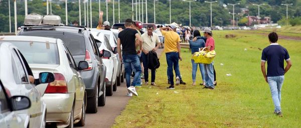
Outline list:
[[[170,24],[170,27],[161,27],[160,31],[162,35],[165,37],[165,47],[164,52],[166,54],[166,61],[168,65],[168,75],[170,76],[171,85],[167,87],[168,89],[175,89],[174,86],[174,72],[179,71],[179,59],[182,60],[181,57],[181,47],[180,47],[180,36],[176,32],[177,26],[175,24]],[[169,31],[167,31],[169,30]]]

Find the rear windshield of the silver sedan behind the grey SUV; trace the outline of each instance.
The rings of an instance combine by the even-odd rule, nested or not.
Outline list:
[[[10,41],[16,45],[28,63],[59,64],[56,43],[36,41]]]

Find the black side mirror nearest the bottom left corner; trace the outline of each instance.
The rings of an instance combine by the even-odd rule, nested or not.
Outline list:
[[[16,95],[10,98],[13,110],[23,110],[31,106],[31,101],[27,96]]]

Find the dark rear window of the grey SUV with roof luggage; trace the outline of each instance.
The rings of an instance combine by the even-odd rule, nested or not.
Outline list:
[[[52,37],[52,38],[60,38],[63,40],[64,44],[70,50],[72,55],[81,55],[85,54],[86,45],[83,36],[69,34],[69,33],[25,33],[23,35],[31,35],[31,36],[43,36],[43,37]]]

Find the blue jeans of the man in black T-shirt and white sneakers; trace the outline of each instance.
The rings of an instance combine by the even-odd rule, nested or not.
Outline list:
[[[126,86],[135,86],[141,75],[141,65],[139,58],[136,54],[122,55],[122,58],[124,63]],[[135,76],[132,83],[130,84],[131,63],[133,64],[135,69]]]

